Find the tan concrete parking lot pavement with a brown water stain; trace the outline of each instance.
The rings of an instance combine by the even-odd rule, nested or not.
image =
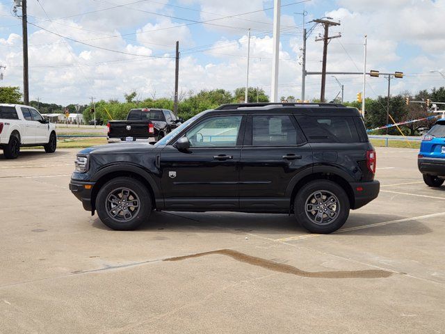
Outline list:
[[[378,148],[379,198],[330,235],[220,212],[108,230],[68,190],[76,151],[0,157],[0,333],[445,331],[445,186],[417,150]]]

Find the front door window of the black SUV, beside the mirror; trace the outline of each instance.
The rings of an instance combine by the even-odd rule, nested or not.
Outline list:
[[[243,116],[212,117],[190,129],[186,136],[194,148],[234,147]]]

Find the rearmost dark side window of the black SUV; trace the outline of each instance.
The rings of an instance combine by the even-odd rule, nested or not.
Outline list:
[[[299,116],[298,124],[312,143],[360,141],[352,116]]]

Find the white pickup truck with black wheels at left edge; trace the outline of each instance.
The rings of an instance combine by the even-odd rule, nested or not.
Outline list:
[[[21,146],[43,146],[47,153],[56,152],[56,125],[32,106],[0,104],[0,148],[6,159],[17,158]]]

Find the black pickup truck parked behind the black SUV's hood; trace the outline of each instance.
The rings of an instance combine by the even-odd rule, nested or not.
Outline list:
[[[159,141],[181,124],[181,119],[166,109],[131,109],[127,120],[108,122],[108,143],[120,141]]]

